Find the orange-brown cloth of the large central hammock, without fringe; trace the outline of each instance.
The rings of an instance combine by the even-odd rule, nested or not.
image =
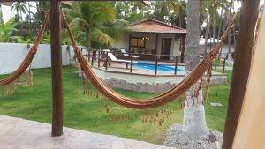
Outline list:
[[[173,101],[181,94],[185,93],[193,84],[195,84],[204,74],[205,71],[211,67],[211,63],[215,59],[218,54],[220,48],[223,45],[223,42],[227,38],[228,34],[231,31],[231,27],[236,20],[236,15],[231,20],[231,23],[227,27],[223,36],[221,37],[221,41],[216,44],[216,46],[208,53],[208,55],[199,63],[191,73],[189,73],[186,78],[184,78],[177,86],[170,89],[170,91],[163,93],[155,98],[140,100],[125,97],[114,90],[112,90],[109,86],[107,86],[101,78],[98,78],[95,72],[92,70],[92,67],[87,63],[86,58],[82,55],[81,50],[79,49],[77,42],[74,40],[71,28],[67,22],[64,12],[62,12],[62,17],[64,19],[64,24],[70,35],[70,39],[72,42],[72,47],[74,49],[75,55],[77,56],[79,65],[81,70],[90,80],[90,82],[110,101],[116,102],[121,106],[125,106],[127,108],[138,108],[138,109],[146,109],[146,108],[156,108],[166,103]]]

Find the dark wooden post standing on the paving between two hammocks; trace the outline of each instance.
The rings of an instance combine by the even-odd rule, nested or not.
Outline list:
[[[50,50],[52,73],[52,136],[63,134],[62,38],[60,2],[50,0]]]

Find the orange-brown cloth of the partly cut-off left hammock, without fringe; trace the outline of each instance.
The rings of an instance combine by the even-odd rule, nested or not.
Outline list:
[[[49,12],[46,14],[45,19],[42,23],[42,28],[34,41],[33,47],[30,48],[30,50],[28,51],[26,58],[23,60],[22,63],[20,63],[19,68],[16,71],[14,71],[9,77],[0,80],[0,86],[6,86],[11,84],[16,79],[18,79],[25,71],[27,71],[27,68],[29,67],[30,63],[32,63],[32,60],[38,50],[39,44],[42,40],[42,34],[45,31],[48,21],[49,21]]]

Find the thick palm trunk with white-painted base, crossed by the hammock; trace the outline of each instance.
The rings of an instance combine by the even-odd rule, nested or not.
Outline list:
[[[187,1],[187,27],[186,27],[186,71],[192,71],[199,63],[199,37],[200,37],[200,0]],[[193,87],[198,87],[195,84]],[[190,93],[194,92],[193,87],[185,93],[185,108],[183,132],[190,139],[199,140],[208,135],[208,128],[205,120],[205,111],[202,104],[202,93],[194,98]]]

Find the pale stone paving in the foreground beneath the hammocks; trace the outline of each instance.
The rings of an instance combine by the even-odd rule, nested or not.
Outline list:
[[[170,149],[133,139],[64,128],[50,136],[51,125],[0,115],[0,149]]]

